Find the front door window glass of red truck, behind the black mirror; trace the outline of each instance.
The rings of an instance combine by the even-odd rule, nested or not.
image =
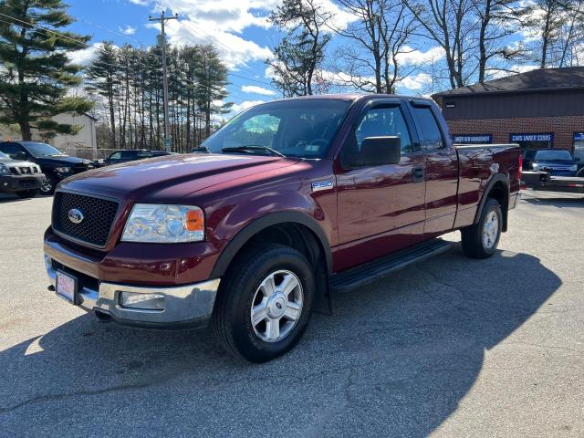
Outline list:
[[[408,125],[399,107],[374,108],[367,111],[355,130],[355,136],[359,150],[367,137],[397,136],[401,140],[401,153],[413,152]]]

